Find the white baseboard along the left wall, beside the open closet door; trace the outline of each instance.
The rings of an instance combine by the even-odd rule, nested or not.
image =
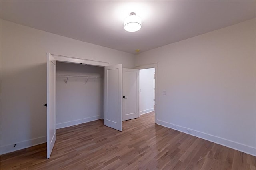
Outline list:
[[[38,144],[45,143],[45,142],[46,142],[46,136],[42,136],[42,137],[34,138],[34,139],[31,139],[31,140],[25,140],[25,141],[22,141],[22,142],[17,142],[17,143],[15,143],[16,144],[15,147],[14,147],[15,144],[8,144],[6,146],[1,146],[0,154],[2,155],[2,154],[9,153],[9,152],[14,152],[16,150],[28,148],[28,147],[31,147],[31,146],[35,146],[35,145],[38,145]]]

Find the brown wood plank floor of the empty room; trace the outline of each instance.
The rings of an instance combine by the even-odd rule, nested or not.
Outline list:
[[[46,144],[1,155],[5,169],[256,170],[256,157],[154,124],[154,113],[123,122],[102,120],[57,130],[50,159]]]

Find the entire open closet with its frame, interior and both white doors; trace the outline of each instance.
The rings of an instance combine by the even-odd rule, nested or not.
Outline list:
[[[117,95],[122,94],[122,64],[110,65],[104,61],[51,55],[50,53],[46,55],[47,158],[50,158],[52,153],[57,128],[78,125],[105,117],[106,119],[103,119],[105,126],[122,131],[122,97]],[[64,63],[57,63],[58,61]],[[58,78],[56,78],[57,76]],[[102,79],[103,77],[104,79]],[[69,87],[71,84],[76,86]],[[85,91],[82,85],[90,86],[89,84],[94,89]],[[58,88],[58,86],[60,87]],[[56,87],[60,91],[57,92],[57,97]],[[86,105],[86,101],[90,107]],[[58,102],[57,106],[56,102]],[[60,116],[56,116],[56,111]]]

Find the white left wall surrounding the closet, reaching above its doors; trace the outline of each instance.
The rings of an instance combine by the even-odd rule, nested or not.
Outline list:
[[[1,20],[1,154],[46,141],[47,52],[134,67],[132,54]]]

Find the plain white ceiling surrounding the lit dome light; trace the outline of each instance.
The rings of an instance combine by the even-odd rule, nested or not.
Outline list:
[[[1,18],[128,53],[148,51],[255,18],[256,1],[3,1]],[[126,32],[130,12],[142,18]]]

